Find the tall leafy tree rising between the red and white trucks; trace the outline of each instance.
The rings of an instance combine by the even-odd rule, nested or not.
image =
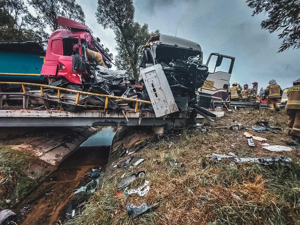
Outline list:
[[[138,47],[145,44],[154,33],[149,32],[148,24],[141,26],[134,22],[134,10],[133,0],[98,0],[96,18],[104,29],[111,28],[116,34],[117,67],[128,70],[138,78],[141,58]]]

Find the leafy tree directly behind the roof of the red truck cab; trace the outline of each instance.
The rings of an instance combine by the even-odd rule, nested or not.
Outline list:
[[[76,0],[29,0],[28,4],[37,14],[37,17],[31,17],[32,26],[39,27],[39,32],[45,39],[49,36],[45,31],[47,26],[52,32],[60,28],[57,23],[59,15],[85,24],[83,9]]]

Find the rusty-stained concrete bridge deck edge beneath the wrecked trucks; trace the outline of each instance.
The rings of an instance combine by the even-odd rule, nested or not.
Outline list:
[[[223,111],[212,112],[221,117]],[[197,118],[203,118],[198,115]],[[172,126],[180,127],[190,122],[189,113],[176,117],[155,117],[153,112],[124,111],[107,113],[85,110],[71,113],[59,110],[0,110],[0,127],[90,127],[90,126]]]

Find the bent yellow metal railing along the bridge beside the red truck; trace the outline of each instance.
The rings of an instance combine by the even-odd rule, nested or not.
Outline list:
[[[67,89],[67,88],[61,88],[61,87],[55,87],[55,86],[50,86],[46,84],[35,84],[35,83],[24,83],[24,82],[0,82],[0,84],[21,84],[22,85],[22,90],[23,93],[26,94],[26,88],[25,85],[30,85],[30,86],[38,86],[40,87],[41,90],[41,95],[44,95],[44,89],[43,88],[53,88],[57,89],[57,98],[60,99],[61,91],[69,91],[73,93],[77,93],[76,100],[75,100],[75,105],[79,103],[79,97],[80,94],[84,95],[94,95],[94,96],[99,96],[99,97],[105,97],[105,105],[104,105],[104,110],[108,108],[108,99],[109,98],[115,98],[115,99],[122,99],[122,100],[127,100],[127,101],[132,101],[136,102],[135,103],[135,112],[138,112],[138,103],[147,103],[147,104],[152,104],[149,101],[144,101],[140,99],[134,99],[134,98],[123,98],[119,96],[113,96],[113,95],[105,95],[105,94],[97,94],[97,93],[90,93],[90,92],[84,92],[84,91],[77,91],[77,90],[72,90],[72,89]],[[34,97],[34,96],[33,96]]]

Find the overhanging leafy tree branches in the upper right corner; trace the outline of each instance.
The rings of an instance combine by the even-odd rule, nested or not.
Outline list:
[[[282,40],[278,52],[290,47],[300,48],[300,1],[298,0],[247,0],[253,14],[268,14],[268,19],[261,23],[262,29],[270,33],[281,30],[278,35]]]

